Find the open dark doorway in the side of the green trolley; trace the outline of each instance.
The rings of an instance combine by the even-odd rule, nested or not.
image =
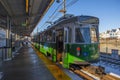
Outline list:
[[[57,52],[57,62],[62,62],[63,53],[63,29],[57,31],[56,35],[56,52]]]

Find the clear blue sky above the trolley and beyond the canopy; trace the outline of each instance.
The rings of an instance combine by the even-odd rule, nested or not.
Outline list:
[[[62,2],[62,0],[60,0]],[[69,4],[74,0],[66,0],[66,4]],[[75,4],[67,7],[67,13],[74,15],[90,15],[96,16],[100,19],[99,31],[105,32],[106,30],[120,28],[120,0],[75,0]],[[43,19],[39,22],[34,33],[41,31],[46,28],[49,17],[55,11],[55,9],[60,5],[60,3],[54,2],[48,12],[45,14]],[[62,8],[62,6],[61,6]],[[59,9],[60,10],[60,9]],[[58,12],[56,17],[62,16],[62,13]],[[50,19],[54,21],[55,19]],[[41,28],[42,26],[42,28]]]

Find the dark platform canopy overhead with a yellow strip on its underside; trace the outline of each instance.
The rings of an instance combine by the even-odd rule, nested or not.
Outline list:
[[[0,27],[7,28],[11,21],[11,31],[21,36],[30,35],[45,15],[54,0],[0,0]]]

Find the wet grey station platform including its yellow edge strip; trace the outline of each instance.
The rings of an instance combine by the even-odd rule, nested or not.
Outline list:
[[[12,60],[3,62],[2,68],[1,80],[71,80],[31,45],[22,47]]]

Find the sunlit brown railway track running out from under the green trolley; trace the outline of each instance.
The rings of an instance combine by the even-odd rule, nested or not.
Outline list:
[[[120,78],[106,74],[104,68],[100,66],[72,64],[70,70],[85,80],[120,80]]]

